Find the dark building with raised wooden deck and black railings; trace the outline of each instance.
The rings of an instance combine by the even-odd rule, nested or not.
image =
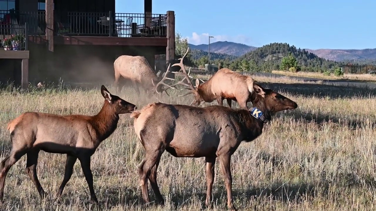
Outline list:
[[[156,54],[174,59],[174,24],[174,11],[153,14],[152,0],[143,14],[115,12],[115,0],[0,0],[0,41],[14,49],[1,47],[0,82],[113,82],[120,55],[144,56],[152,68]]]

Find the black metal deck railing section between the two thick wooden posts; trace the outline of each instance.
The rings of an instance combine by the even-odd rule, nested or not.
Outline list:
[[[166,14],[68,12],[55,17],[56,35],[166,37]],[[148,24],[145,24],[148,23]]]

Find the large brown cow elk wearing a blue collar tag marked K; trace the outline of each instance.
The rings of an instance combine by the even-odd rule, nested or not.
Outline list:
[[[132,112],[134,129],[146,150],[138,168],[143,199],[149,202],[147,179],[158,203],[164,204],[157,184],[157,169],[162,153],[166,150],[174,157],[205,157],[206,205],[212,200],[214,164],[218,157],[227,189],[227,205],[235,209],[232,199],[230,158],[241,142],[250,142],[262,133],[265,122],[274,113],[297,108],[296,102],[271,89],[253,83],[251,95],[253,109],[233,110],[211,105],[193,107],[151,103]],[[163,119],[163,121],[161,121]]]

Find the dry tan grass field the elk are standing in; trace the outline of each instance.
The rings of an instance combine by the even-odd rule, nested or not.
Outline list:
[[[232,156],[235,206],[240,210],[265,211],[375,210],[376,91],[274,79],[257,78],[269,82],[267,87],[279,90],[299,107],[277,114],[258,139],[242,143]],[[114,91],[111,86],[108,89]],[[177,97],[171,90],[169,93],[171,97],[165,96],[161,101],[171,104],[192,101],[192,96]],[[119,96],[139,109],[157,101],[135,96],[132,87],[124,87]],[[47,87],[20,92],[8,87],[0,90],[0,97],[3,99],[1,159],[11,149],[6,124],[21,113],[95,115],[104,101],[99,88]],[[227,106],[226,101],[224,105]],[[238,107],[237,103],[234,105]],[[144,151],[135,154],[136,142],[132,119],[129,114],[121,115],[117,130],[92,156],[94,189],[100,207],[90,203],[88,185],[78,161],[60,202],[54,202],[51,197],[63,179],[65,155],[41,152],[38,177],[50,196],[39,198],[25,173],[26,157],[23,157],[8,173],[5,203],[0,210],[226,210],[226,189],[218,161],[214,206],[205,208],[204,158],[175,158],[168,152],[162,155],[158,168],[159,188],[166,205],[161,207],[152,202],[145,206],[137,173]],[[150,185],[149,190],[153,200]]]

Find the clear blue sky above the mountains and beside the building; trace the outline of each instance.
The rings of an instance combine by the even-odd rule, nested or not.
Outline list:
[[[348,3],[347,3],[348,2]],[[232,41],[261,47],[376,48],[376,1],[153,0],[153,14],[175,11],[175,30],[191,44]],[[356,2],[356,3],[355,3]],[[116,12],[143,13],[143,0],[116,0]]]

